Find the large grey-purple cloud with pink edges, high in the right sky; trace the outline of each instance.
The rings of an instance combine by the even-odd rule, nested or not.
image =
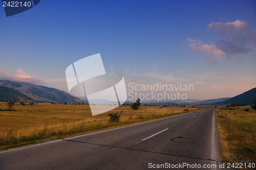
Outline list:
[[[192,50],[203,52],[212,63],[216,63],[219,59],[247,54],[252,51],[250,45],[256,44],[256,30],[251,31],[245,21],[212,22],[207,27],[216,30],[221,39],[211,45],[201,40],[187,38],[187,41],[190,42]]]

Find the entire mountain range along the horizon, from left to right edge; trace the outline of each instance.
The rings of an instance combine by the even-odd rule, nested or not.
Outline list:
[[[229,105],[240,103],[251,105],[256,99],[256,87],[233,98],[220,98],[210,100],[176,100],[176,101],[145,101],[142,104],[148,105]],[[24,102],[53,102],[53,103],[88,103],[65,91],[41,85],[25,82],[13,82],[10,80],[0,80],[0,101],[24,101]],[[104,103],[106,101],[95,101]],[[126,101],[124,104],[132,104]]]

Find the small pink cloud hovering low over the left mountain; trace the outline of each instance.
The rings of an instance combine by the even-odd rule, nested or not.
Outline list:
[[[26,74],[22,69],[17,69],[17,73],[8,72],[0,69],[1,80],[11,80],[16,82],[27,82],[32,84],[44,84],[40,79],[35,78],[31,75]]]

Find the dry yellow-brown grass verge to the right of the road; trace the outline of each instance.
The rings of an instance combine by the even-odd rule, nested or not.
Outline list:
[[[223,161],[256,163],[256,111],[250,106],[228,107],[215,114]]]

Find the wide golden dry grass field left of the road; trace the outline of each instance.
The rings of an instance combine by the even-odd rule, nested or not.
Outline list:
[[[7,111],[7,103],[1,102],[0,109],[0,150],[3,150],[173,116],[176,110],[182,114],[198,107],[141,106],[133,110],[130,106],[119,106],[109,112],[123,111],[117,123],[109,122],[108,113],[92,116],[89,105],[26,103],[22,106],[16,103],[14,111]]]

